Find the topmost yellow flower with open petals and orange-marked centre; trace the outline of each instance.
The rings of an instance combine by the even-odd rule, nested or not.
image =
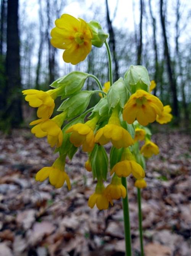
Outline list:
[[[55,20],[55,25],[50,42],[55,48],[65,50],[63,60],[73,65],[83,61],[92,48],[92,31],[86,21],[63,14]]]

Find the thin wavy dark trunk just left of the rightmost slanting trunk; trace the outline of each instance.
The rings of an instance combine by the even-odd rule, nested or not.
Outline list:
[[[159,63],[158,63],[158,51],[157,51],[157,38],[156,38],[156,19],[154,18],[152,14],[152,7],[151,7],[151,0],[149,0],[149,9],[150,9],[150,14],[152,18],[152,33],[153,33],[153,48],[155,52],[155,74],[154,74],[154,80],[155,83],[157,84],[159,79]],[[156,95],[157,92],[157,86],[154,89],[154,95]]]

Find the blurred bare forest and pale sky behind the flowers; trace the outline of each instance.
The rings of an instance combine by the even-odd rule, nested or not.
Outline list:
[[[53,80],[73,70],[93,73],[103,84],[108,81],[104,47],[93,47],[83,63],[72,66],[62,61],[62,50],[50,45],[50,30],[62,13],[99,20],[110,34],[114,79],[123,76],[131,64],[146,66],[157,83],[154,94],[172,106],[176,123],[190,119],[188,0],[1,0],[1,129],[18,127],[23,114],[28,114],[21,89],[47,90]],[[89,79],[86,88],[94,89],[96,84]],[[96,101],[95,96],[91,104]]]

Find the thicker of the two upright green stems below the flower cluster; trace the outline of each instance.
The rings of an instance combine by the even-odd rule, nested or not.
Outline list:
[[[127,191],[127,181],[126,178],[121,178],[122,185]],[[123,220],[124,220],[124,230],[125,230],[125,248],[126,256],[131,256],[131,230],[130,230],[130,219],[129,219],[129,203],[128,203],[128,191],[123,201]]]

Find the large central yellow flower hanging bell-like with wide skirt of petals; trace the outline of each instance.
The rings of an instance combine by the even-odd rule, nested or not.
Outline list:
[[[95,134],[95,142],[98,142],[100,145],[105,145],[109,141],[117,149],[134,144],[129,132],[121,127],[117,109],[113,109],[108,124],[100,128]]]

